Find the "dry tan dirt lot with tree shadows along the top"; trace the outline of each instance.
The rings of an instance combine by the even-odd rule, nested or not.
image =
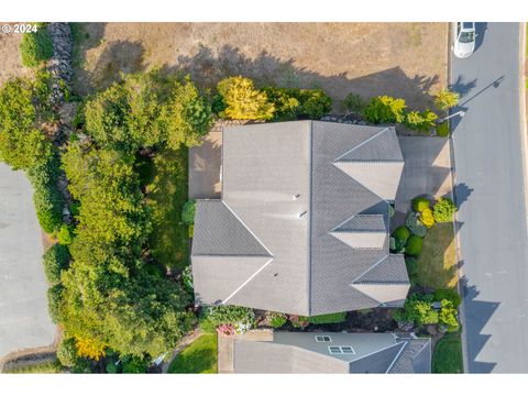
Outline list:
[[[257,84],[387,94],[431,106],[446,85],[447,23],[86,23],[77,34],[75,89],[108,86],[153,66],[211,87],[227,75]]]

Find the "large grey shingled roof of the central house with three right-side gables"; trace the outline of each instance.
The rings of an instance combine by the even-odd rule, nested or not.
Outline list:
[[[404,160],[394,128],[296,121],[227,128],[222,198],[198,200],[199,304],[314,316],[402,305],[388,204]]]

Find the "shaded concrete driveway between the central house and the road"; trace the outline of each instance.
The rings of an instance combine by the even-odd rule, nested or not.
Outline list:
[[[405,166],[395,209],[406,213],[419,195],[441,197],[451,191],[450,153],[447,138],[398,136]],[[402,220],[402,219],[400,219]]]

